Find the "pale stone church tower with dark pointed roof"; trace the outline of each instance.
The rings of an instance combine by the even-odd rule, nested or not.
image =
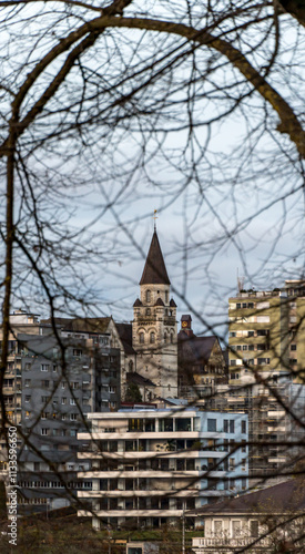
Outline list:
[[[133,305],[132,346],[138,373],[153,381],[154,394],[162,398],[177,397],[176,304],[170,294],[171,281],[154,229],[140,298]]]

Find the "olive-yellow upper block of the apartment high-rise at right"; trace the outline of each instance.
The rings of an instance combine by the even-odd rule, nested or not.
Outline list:
[[[289,373],[289,302],[285,293],[248,291],[228,299],[230,383],[277,382]]]

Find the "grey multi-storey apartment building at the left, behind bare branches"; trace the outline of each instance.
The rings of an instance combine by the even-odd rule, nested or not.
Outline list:
[[[80,486],[77,433],[85,429],[85,414],[120,407],[120,351],[106,334],[64,331],[59,343],[50,326],[35,334],[18,330],[3,392],[8,417],[20,430],[19,505],[57,507],[69,504]],[[6,469],[4,437],[0,454]]]

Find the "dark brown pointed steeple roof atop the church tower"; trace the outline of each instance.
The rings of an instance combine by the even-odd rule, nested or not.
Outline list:
[[[152,237],[140,285],[171,285],[155,230]]]

